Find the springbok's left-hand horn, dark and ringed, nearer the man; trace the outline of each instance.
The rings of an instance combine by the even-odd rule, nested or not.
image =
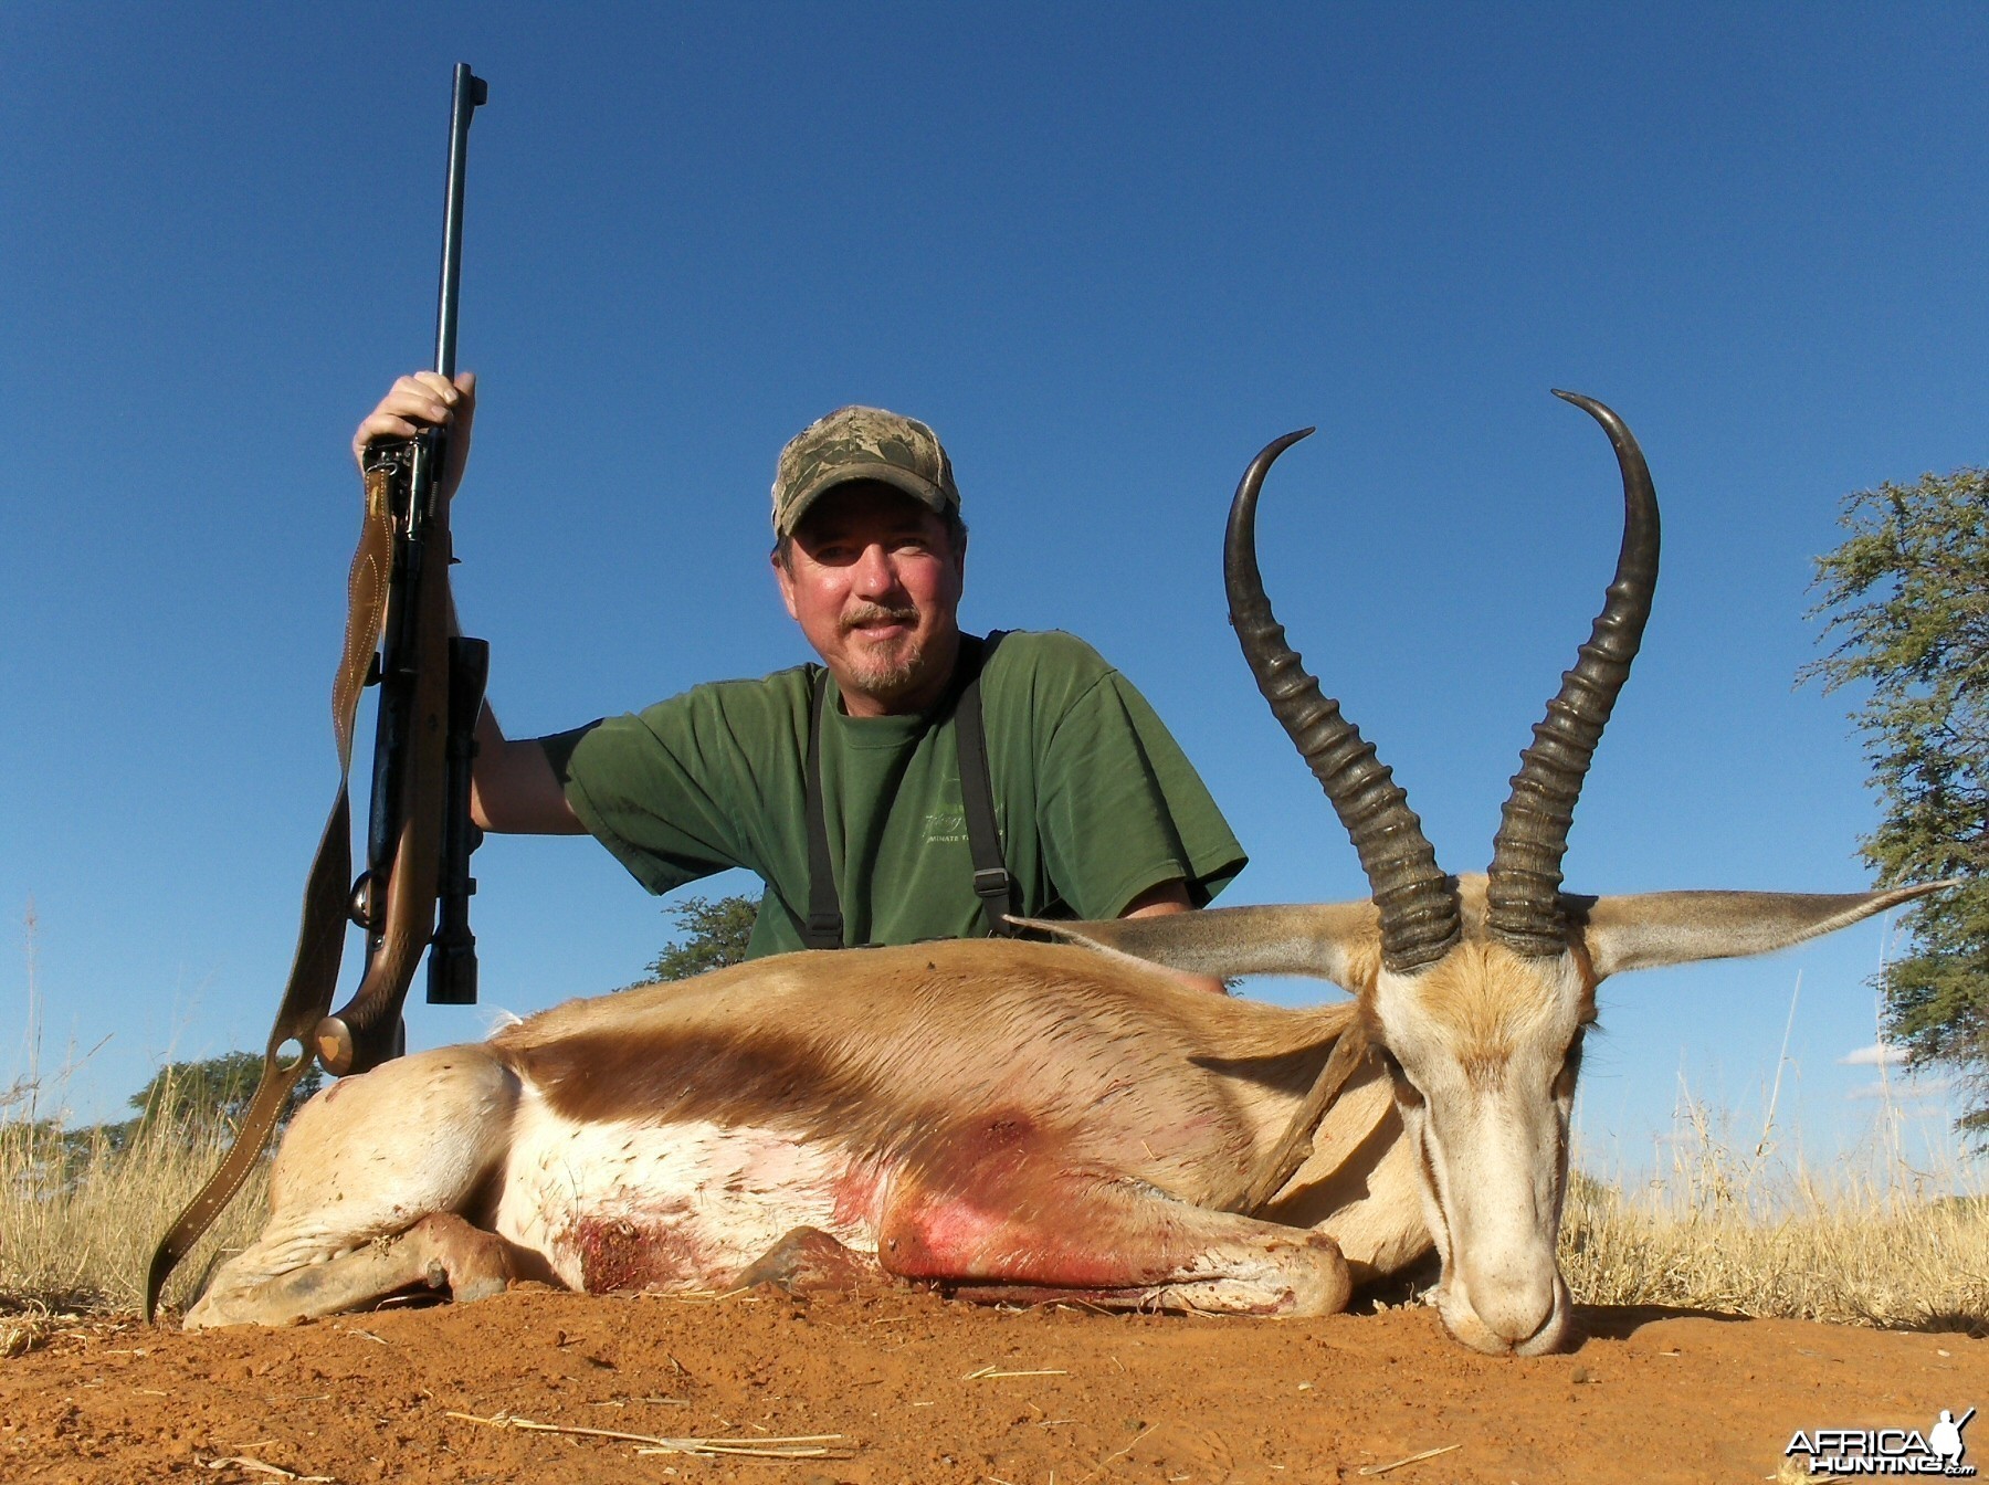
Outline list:
[[[1257,569],[1257,491],[1285,449],[1311,427],[1267,445],[1237,485],[1223,543],[1223,580],[1229,586],[1229,624],[1243,644],[1243,658],[1273,716],[1299,745],[1313,777],[1333,801],[1333,811],[1360,853],[1380,908],[1382,964],[1404,974],[1438,960],[1458,942],[1458,895],[1436,865],[1436,851],[1422,835],[1422,821],[1408,795],[1374,757],[1374,745],[1341,716],[1341,704],[1321,696],[1305,660],[1285,644],[1285,626],[1271,612]]]

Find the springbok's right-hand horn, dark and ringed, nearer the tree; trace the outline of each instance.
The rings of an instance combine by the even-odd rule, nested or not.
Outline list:
[[[1567,946],[1559,908],[1567,827],[1595,743],[1637,658],[1657,588],[1657,491],[1637,439],[1595,398],[1553,396],[1601,423],[1615,445],[1623,471],[1623,549],[1589,642],[1575,656],[1575,668],[1561,674],[1561,694],[1547,702],[1547,720],[1534,728],[1534,745],[1520,753],[1520,771],[1492,839],[1486,928],[1528,958],[1547,958]]]

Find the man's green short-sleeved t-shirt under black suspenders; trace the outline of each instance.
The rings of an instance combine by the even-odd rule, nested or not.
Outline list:
[[[581,823],[652,893],[746,867],[766,883],[750,954],[802,948],[808,698],[821,666],[696,686],[545,738]],[[1008,634],[981,678],[989,773],[1020,912],[1118,916],[1183,879],[1201,907],[1243,849],[1132,684],[1070,634]],[[843,942],[987,930],[973,891],[951,706],[851,718],[835,686],[821,793]]]

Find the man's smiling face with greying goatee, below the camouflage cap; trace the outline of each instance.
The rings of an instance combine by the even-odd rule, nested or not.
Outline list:
[[[889,485],[817,499],[774,557],[788,612],[827,664],[849,716],[921,712],[947,688],[965,553],[947,525]]]

